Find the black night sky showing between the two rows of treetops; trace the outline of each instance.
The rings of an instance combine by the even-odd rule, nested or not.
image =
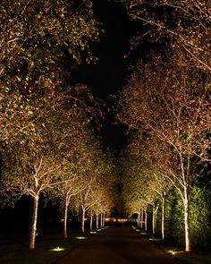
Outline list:
[[[74,74],[76,81],[88,84],[95,97],[111,109],[105,115],[101,135],[105,146],[118,151],[126,142],[125,128],[116,123],[112,108],[116,102],[115,95],[127,75],[129,60],[124,55],[130,50],[129,39],[135,35],[138,26],[131,21],[124,6],[114,1],[95,0],[94,11],[105,30],[93,47],[97,63],[80,65]]]

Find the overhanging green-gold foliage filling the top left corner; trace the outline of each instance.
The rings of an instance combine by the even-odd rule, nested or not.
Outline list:
[[[77,63],[82,54],[92,59],[89,41],[96,40],[98,32],[91,1],[2,1],[0,7],[0,73],[5,80],[13,76],[21,82],[24,77],[26,82],[40,81],[48,76],[52,81],[63,70],[65,55]]]

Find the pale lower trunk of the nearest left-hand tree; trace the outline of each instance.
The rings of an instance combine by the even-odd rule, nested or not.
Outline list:
[[[38,221],[38,199],[39,196],[33,197],[33,215],[31,220],[31,231],[30,231],[30,250],[35,249],[35,238],[37,234],[37,221]]]

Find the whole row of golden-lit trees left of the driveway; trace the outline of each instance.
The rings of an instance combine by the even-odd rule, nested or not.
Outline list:
[[[91,123],[100,113],[85,85],[70,86],[72,68],[94,59],[92,1],[1,1],[1,203],[30,195],[30,249],[35,248],[40,196],[82,215],[109,212],[113,158]],[[97,109],[97,110],[96,110]],[[97,114],[97,115],[96,115]]]

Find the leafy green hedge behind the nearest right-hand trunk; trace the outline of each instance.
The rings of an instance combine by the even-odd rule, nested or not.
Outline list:
[[[156,232],[161,233],[161,213],[158,212]],[[193,247],[211,244],[211,192],[194,186],[190,191],[190,231]],[[184,210],[181,196],[173,189],[169,192],[165,208],[165,238],[184,245]]]

